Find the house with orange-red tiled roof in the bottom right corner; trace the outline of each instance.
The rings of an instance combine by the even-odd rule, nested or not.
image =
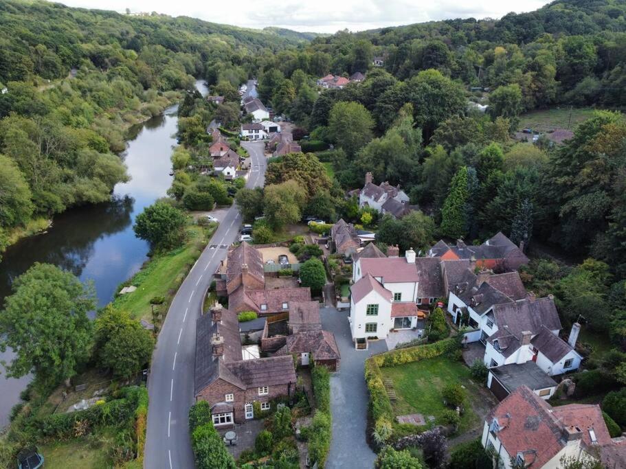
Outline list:
[[[596,448],[618,444],[611,439],[598,405],[552,407],[526,386],[491,410],[481,442],[504,469],[560,468],[563,458],[596,458]]]

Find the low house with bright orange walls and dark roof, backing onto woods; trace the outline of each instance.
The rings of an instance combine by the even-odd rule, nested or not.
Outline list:
[[[500,271],[517,271],[519,266],[528,264],[524,254],[524,244],[515,246],[501,231],[480,246],[468,246],[462,240],[456,244],[446,244],[440,240],[428,250],[428,255],[442,260],[467,259],[476,262],[478,267]]]

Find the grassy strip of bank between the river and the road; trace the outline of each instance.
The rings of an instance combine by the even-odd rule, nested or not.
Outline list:
[[[128,311],[137,319],[153,322],[150,300],[167,297],[177,290],[188,268],[194,264],[216,229],[216,224],[208,229],[190,225],[186,244],[174,251],[153,256],[141,271],[125,282],[136,286],[137,290],[115,298],[113,306]]]

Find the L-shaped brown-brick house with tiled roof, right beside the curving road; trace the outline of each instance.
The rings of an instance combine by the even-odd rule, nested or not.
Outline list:
[[[254,402],[291,396],[295,368],[291,356],[244,359],[236,314],[218,304],[196,325],[194,397],[211,406],[216,428],[254,418]]]

